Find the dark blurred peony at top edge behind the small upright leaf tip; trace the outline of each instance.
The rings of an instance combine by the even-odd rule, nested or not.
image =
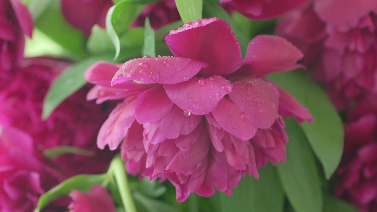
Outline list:
[[[161,2],[148,4],[132,23],[132,26],[144,26],[146,17],[149,17],[150,25],[154,30],[181,20],[174,0],[162,0]]]

